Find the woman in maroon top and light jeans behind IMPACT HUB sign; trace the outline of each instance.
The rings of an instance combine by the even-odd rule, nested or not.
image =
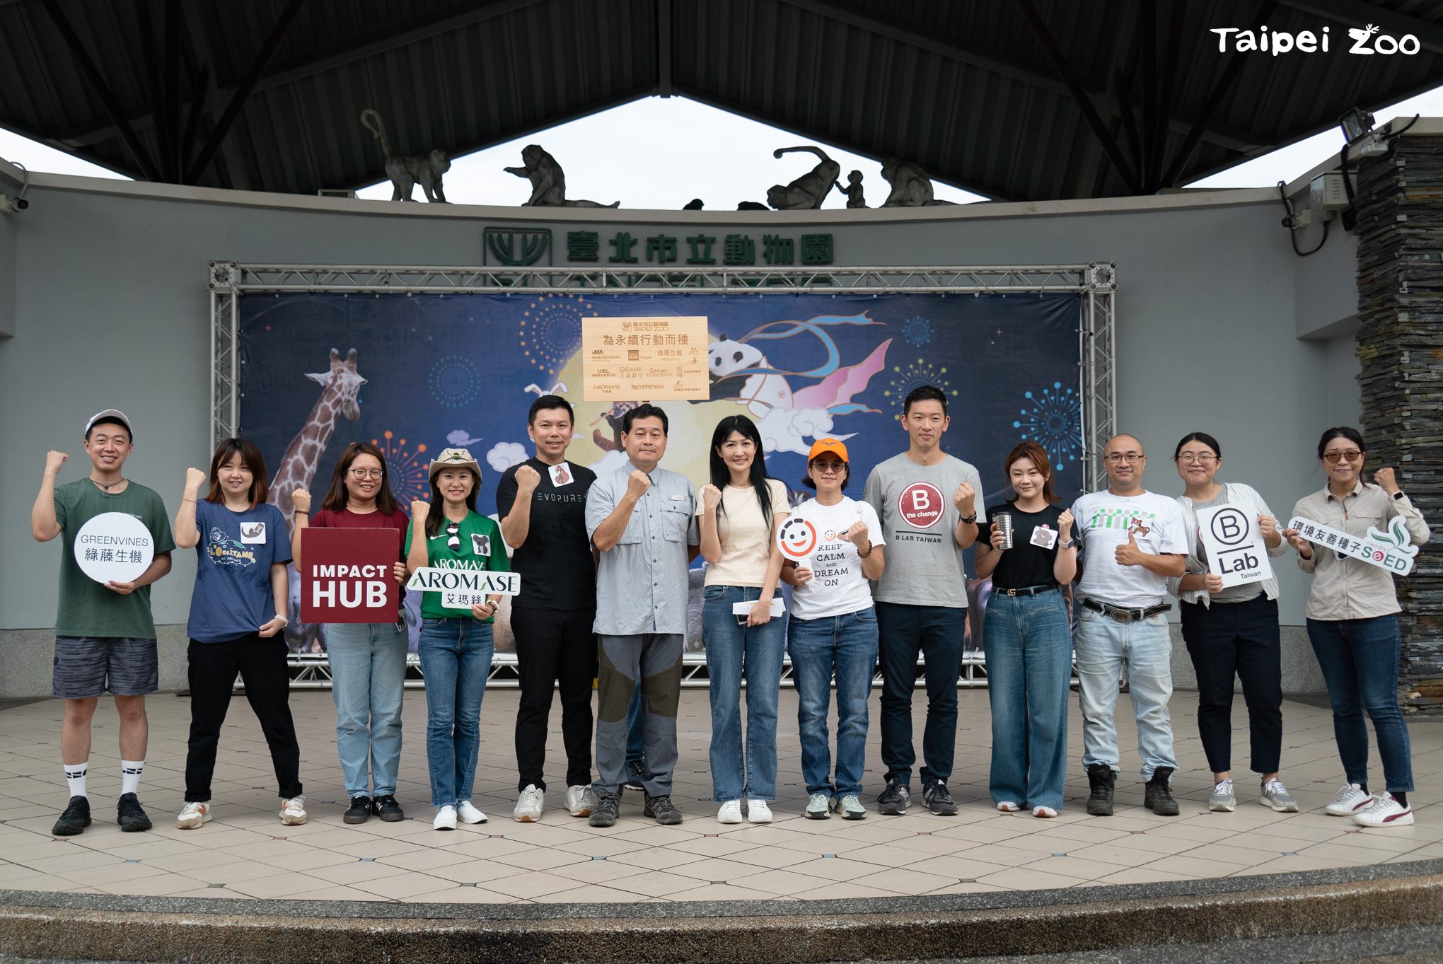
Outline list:
[[[404,556],[410,520],[391,494],[385,456],[374,444],[352,442],[341,453],[320,511],[310,512],[310,492],[291,494],[296,528],[291,556],[300,569],[300,534],[306,528],[394,528],[397,558]],[[405,580],[405,563],[395,563],[395,580]],[[336,752],[345,774],[348,824],[364,824],[371,814],[387,823],[404,820],[395,802],[395,781],[401,763],[401,696],[405,681],[405,621],[326,623],[326,655],[330,658],[330,696],[336,703]],[[367,762],[369,761],[369,772]],[[374,789],[372,789],[374,786]]]

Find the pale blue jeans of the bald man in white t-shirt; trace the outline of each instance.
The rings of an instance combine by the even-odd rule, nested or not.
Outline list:
[[[1143,779],[1159,766],[1177,769],[1173,756],[1172,639],[1162,613],[1139,622],[1117,622],[1091,609],[1078,609],[1078,703],[1082,707],[1082,766],[1118,766],[1117,683],[1127,661],[1127,685],[1137,720],[1137,753],[1143,758]]]

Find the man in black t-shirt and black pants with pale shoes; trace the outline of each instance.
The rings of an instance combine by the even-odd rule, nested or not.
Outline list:
[[[560,395],[541,395],[527,414],[537,455],[506,469],[496,486],[501,535],[521,592],[511,600],[521,706],[517,710],[519,795],[511,815],[541,818],[545,730],[560,681],[566,745],[566,808],[587,817],[592,794],[592,680],[596,677],[596,560],[586,535],[586,491],[596,473],[566,460],[574,419]]]

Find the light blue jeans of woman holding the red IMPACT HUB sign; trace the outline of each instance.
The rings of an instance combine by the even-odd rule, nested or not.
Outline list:
[[[397,629],[394,622],[326,623],[330,698],[336,703],[336,752],[346,797],[395,794],[401,763],[405,644],[405,632]]]

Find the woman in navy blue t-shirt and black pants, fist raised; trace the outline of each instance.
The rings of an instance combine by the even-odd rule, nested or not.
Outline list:
[[[231,704],[235,674],[255,710],[270,746],[280,786],[280,821],[306,823],[300,788],[300,746],[290,719],[290,674],[286,670],[286,563],[290,537],[280,509],[267,505],[266,462],[245,439],[227,439],[211,456],[211,491],[205,473],[186,469],[176,512],[176,545],[195,547],[195,592],[190,595],[190,743],[185,761],[185,807],[180,830],[211,820],[211,775],[215,746]]]

